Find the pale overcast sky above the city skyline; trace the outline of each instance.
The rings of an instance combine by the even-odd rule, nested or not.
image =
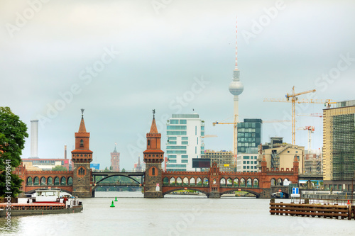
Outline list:
[[[33,3],[33,4],[29,4]],[[32,6],[31,6],[32,5]],[[84,108],[94,161],[109,167],[121,152],[132,169],[146,148],[156,111],[166,142],[173,113],[199,113],[205,148],[231,150],[238,17],[238,63],[244,92],[239,120],[290,120],[286,93],[316,89],[299,99],[355,99],[355,1],[0,1],[0,106],[9,106],[31,130],[40,120],[38,154],[70,152]],[[322,113],[323,104],[301,104],[297,113]],[[195,111],[192,111],[195,109]],[[312,148],[322,147],[322,118],[297,117],[296,128],[314,125]],[[291,142],[291,123],[263,125]],[[31,137],[22,157],[31,155]],[[296,132],[307,147],[307,132]]]

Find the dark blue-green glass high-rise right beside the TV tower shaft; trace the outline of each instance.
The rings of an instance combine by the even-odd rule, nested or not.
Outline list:
[[[244,122],[238,123],[238,153],[258,153],[263,137],[262,126],[261,119],[244,119]]]

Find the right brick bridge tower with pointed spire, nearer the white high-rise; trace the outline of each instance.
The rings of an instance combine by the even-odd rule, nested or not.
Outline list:
[[[145,198],[163,198],[161,191],[163,180],[161,177],[161,163],[164,160],[164,152],[160,150],[161,134],[155,124],[155,110],[153,110],[153,121],[151,131],[147,133],[147,150],[143,152],[143,159],[146,162],[146,174],[144,179]]]

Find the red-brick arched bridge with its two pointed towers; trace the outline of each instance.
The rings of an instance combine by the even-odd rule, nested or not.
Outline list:
[[[165,194],[187,189],[204,193],[208,198],[220,198],[225,193],[237,190],[253,193],[256,198],[271,198],[271,193],[274,192],[283,192],[288,196],[288,186],[282,186],[283,181],[298,182],[297,158],[294,159],[291,169],[268,169],[266,159],[263,157],[261,172],[220,172],[215,162],[208,172],[163,172],[161,166],[164,152],[160,150],[161,134],[158,133],[154,114],[151,130],[146,135],[147,149],[143,152],[143,159],[146,162],[145,172],[92,172],[89,137],[90,133],[87,133],[82,114],[79,131],[75,133],[75,150],[72,151],[73,170],[28,171],[21,164],[13,172],[23,179],[21,191],[31,194],[35,189],[55,187],[73,196],[89,198],[94,197],[94,191],[99,186],[143,185],[145,198],[163,198]],[[104,178],[95,181],[96,176],[104,176]],[[104,182],[112,176],[126,176],[132,179],[132,183]],[[141,176],[141,181],[137,181],[133,176]]]

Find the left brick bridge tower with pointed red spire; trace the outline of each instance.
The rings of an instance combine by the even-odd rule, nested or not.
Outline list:
[[[80,198],[92,197],[90,162],[92,151],[89,150],[90,133],[87,133],[84,123],[84,109],[79,131],[75,133],[75,150],[72,150],[74,164],[72,178],[72,195]]]

